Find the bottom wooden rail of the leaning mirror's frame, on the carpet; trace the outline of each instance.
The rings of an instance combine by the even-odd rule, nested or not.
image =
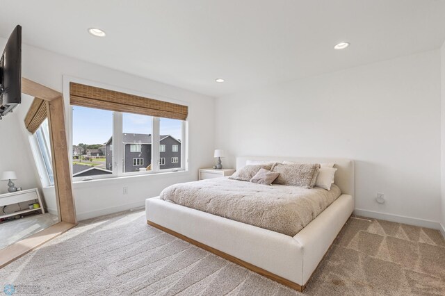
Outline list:
[[[47,229],[34,233],[32,236],[15,242],[13,245],[0,249],[0,268],[24,256],[24,254],[31,252],[33,249],[40,247],[40,245],[43,245],[48,240],[60,236],[60,234],[72,229],[74,226],[76,226],[76,224],[58,222]]]

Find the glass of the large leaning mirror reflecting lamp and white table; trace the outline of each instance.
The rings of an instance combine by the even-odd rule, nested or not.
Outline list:
[[[0,121],[0,249],[60,221],[48,120],[35,133],[24,123],[33,100],[22,94],[22,104]]]

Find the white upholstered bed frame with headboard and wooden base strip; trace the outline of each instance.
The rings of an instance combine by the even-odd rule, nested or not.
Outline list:
[[[342,195],[293,237],[165,202],[159,197],[145,202],[147,223],[302,291],[353,213],[354,162],[343,158],[241,156],[236,158],[236,170],[247,160],[335,163],[335,184]]]

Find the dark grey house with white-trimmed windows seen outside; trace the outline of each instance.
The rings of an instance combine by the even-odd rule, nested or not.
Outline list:
[[[181,167],[181,141],[171,135],[160,135],[159,157],[161,170]],[[137,172],[152,164],[152,135],[124,133],[124,172]],[[106,142],[106,168],[113,169],[113,137]]]

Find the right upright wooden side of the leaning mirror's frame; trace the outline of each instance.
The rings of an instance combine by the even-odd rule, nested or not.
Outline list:
[[[65,131],[65,109],[63,97],[47,101],[49,138],[53,156],[54,188],[58,197],[60,219],[76,224],[76,208],[72,194],[70,158],[68,156]]]

